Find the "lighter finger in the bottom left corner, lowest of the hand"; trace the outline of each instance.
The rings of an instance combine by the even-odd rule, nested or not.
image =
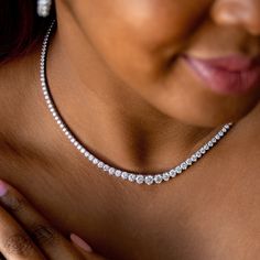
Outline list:
[[[45,259],[29,235],[2,207],[0,207],[0,251],[8,260]]]

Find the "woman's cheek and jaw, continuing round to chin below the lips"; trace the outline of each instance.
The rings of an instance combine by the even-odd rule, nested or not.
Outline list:
[[[206,93],[180,62],[178,54],[207,21],[212,2],[75,0],[71,10],[86,41],[116,77],[170,117],[217,126],[243,116],[256,105],[256,95],[223,98]]]

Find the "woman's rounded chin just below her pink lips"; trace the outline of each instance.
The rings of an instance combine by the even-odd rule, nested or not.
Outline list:
[[[259,88],[240,95],[221,95],[204,84],[181,64],[165,84],[158,87],[153,105],[183,123],[215,128],[247,117],[260,99]]]

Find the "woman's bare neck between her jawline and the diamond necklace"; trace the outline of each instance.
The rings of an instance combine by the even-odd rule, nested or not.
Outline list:
[[[161,172],[215,131],[187,126],[150,106],[113,76],[75,23],[63,24],[48,47],[50,89],[69,128],[98,158],[128,171]]]

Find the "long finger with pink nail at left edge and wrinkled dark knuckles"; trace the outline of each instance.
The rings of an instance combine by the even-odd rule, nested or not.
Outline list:
[[[80,253],[14,187],[0,181],[0,204],[25,229],[47,259],[80,259]],[[2,196],[1,196],[2,194]]]

